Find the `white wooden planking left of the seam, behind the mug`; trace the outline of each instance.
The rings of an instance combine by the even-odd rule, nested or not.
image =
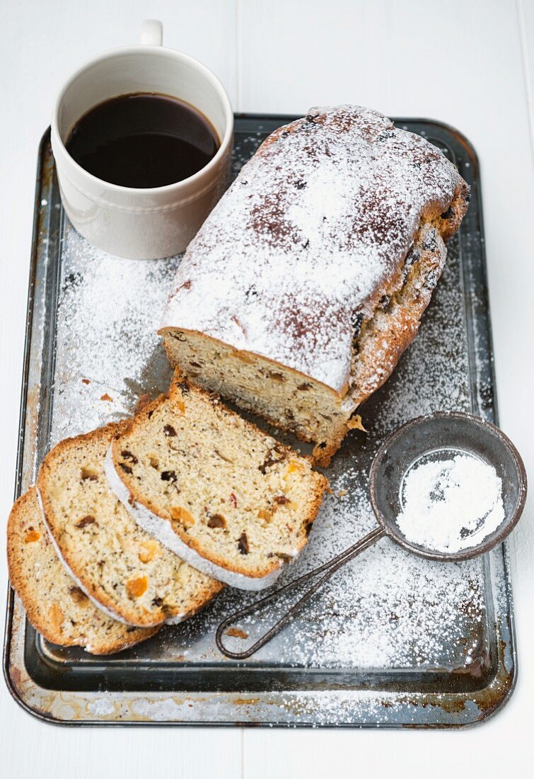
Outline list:
[[[236,48],[234,0],[154,0],[148,4],[141,0],[19,0],[6,3],[2,11],[0,533],[4,538],[15,477],[37,146],[50,122],[54,95],[86,58],[137,42],[146,16],[163,20],[165,44],[182,48],[213,68],[233,100]],[[6,588],[2,551],[2,624]],[[237,729],[54,728],[23,712],[3,681],[0,741],[0,775],[6,779],[241,777]]]

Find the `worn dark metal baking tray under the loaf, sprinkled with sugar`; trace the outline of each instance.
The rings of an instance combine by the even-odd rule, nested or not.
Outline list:
[[[269,132],[292,118],[237,115],[234,174]],[[371,529],[369,465],[385,436],[404,421],[440,409],[497,421],[476,154],[445,125],[397,124],[443,150],[473,195],[420,334],[362,407],[369,432],[353,431],[336,455],[328,469],[332,495],[283,580]],[[118,259],[84,241],[61,209],[45,133],[16,495],[33,483],[40,460],[59,439],[131,413],[141,393],[167,389],[170,368],[156,326],[179,259]],[[254,657],[232,661],[216,650],[216,625],[254,597],[227,589],[183,625],[98,658],[44,641],[10,591],[5,679],[26,710],[61,724],[459,727],[493,714],[513,689],[506,545],[481,559],[437,563],[384,539],[339,571]],[[273,616],[242,626],[249,640]],[[233,641],[244,646],[243,639]]]

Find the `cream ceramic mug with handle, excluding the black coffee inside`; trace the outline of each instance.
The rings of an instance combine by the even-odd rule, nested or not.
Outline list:
[[[121,257],[157,259],[183,252],[227,185],[234,130],[228,95],[206,65],[161,44],[161,23],[146,21],[139,46],[104,51],[77,70],[52,115],[52,151],[65,212],[84,238]],[[72,126],[95,105],[133,92],[171,95],[201,111],[220,139],[215,157],[189,178],[153,189],[110,184],[85,171],[65,148]]]

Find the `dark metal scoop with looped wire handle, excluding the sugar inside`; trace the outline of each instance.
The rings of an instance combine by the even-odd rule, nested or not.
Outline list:
[[[429,460],[441,459],[443,455],[450,458],[457,454],[476,456],[495,468],[497,476],[502,481],[504,520],[494,532],[485,536],[476,546],[464,548],[459,552],[436,552],[434,549],[414,544],[401,533],[396,519],[402,510],[402,485],[406,475],[417,465]],[[280,587],[279,590],[223,619],[216,631],[217,647],[223,654],[234,660],[251,657],[276,633],[279,633],[279,630],[293,618],[298,609],[333,573],[385,536],[409,552],[413,552],[414,555],[440,562],[466,560],[489,552],[504,541],[518,523],[525,506],[526,489],[525,465],[521,456],[510,439],[490,422],[461,412],[438,412],[407,422],[382,444],[371,464],[371,506],[378,520],[378,527],[324,565],[305,573],[304,576],[299,576],[285,587]],[[237,619],[260,610],[280,595],[287,594],[293,590],[293,587],[298,587],[318,574],[322,574],[318,581],[248,650],[233,652],[223,645],[225,630]]]

